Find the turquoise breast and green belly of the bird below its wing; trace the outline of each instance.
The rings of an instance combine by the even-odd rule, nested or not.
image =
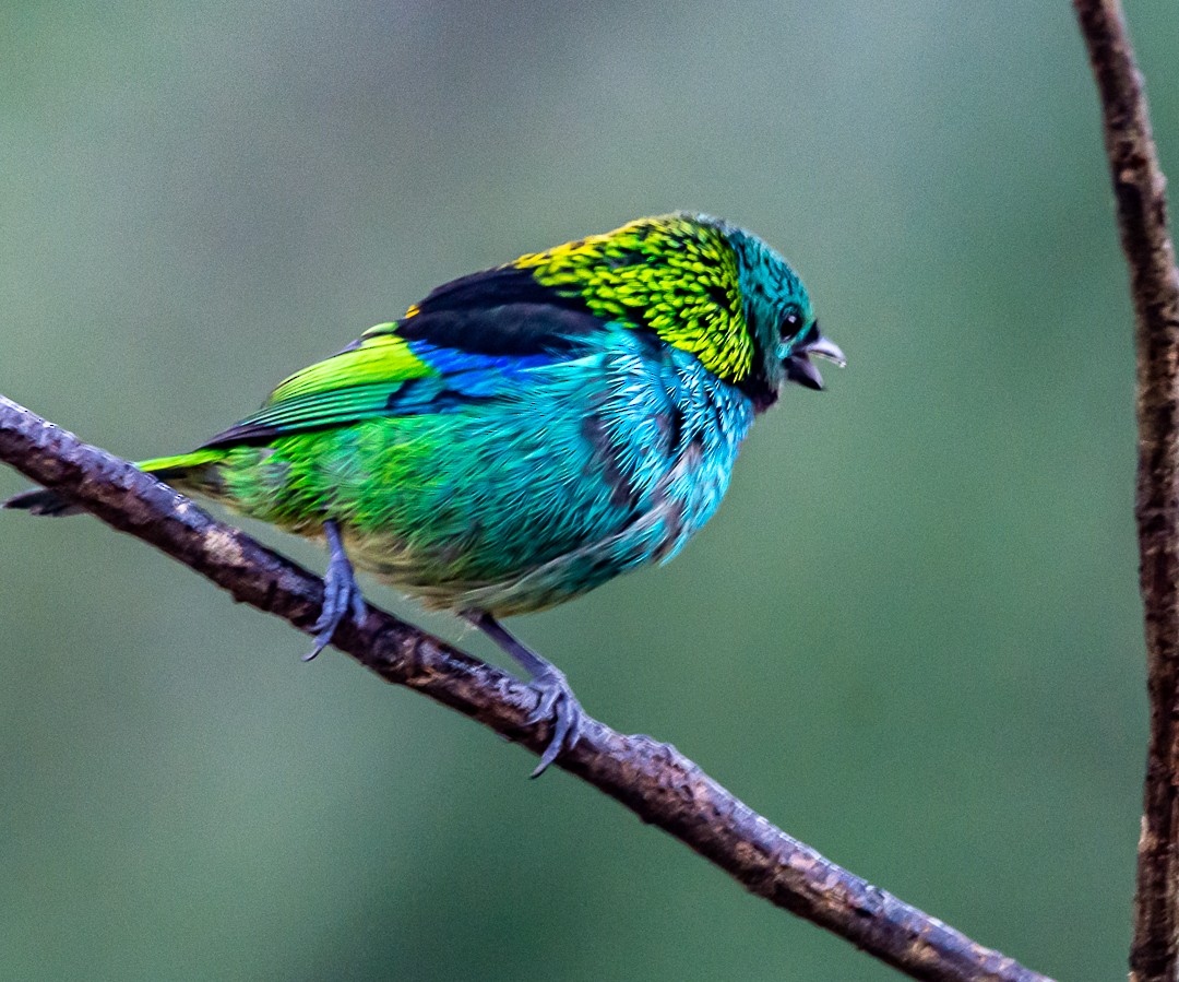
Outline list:
[[[507,616],[678,552],[752,419],[693,355],[614,332],[494,399],[340,431],[323,459],[357,567],[430,607]]]

